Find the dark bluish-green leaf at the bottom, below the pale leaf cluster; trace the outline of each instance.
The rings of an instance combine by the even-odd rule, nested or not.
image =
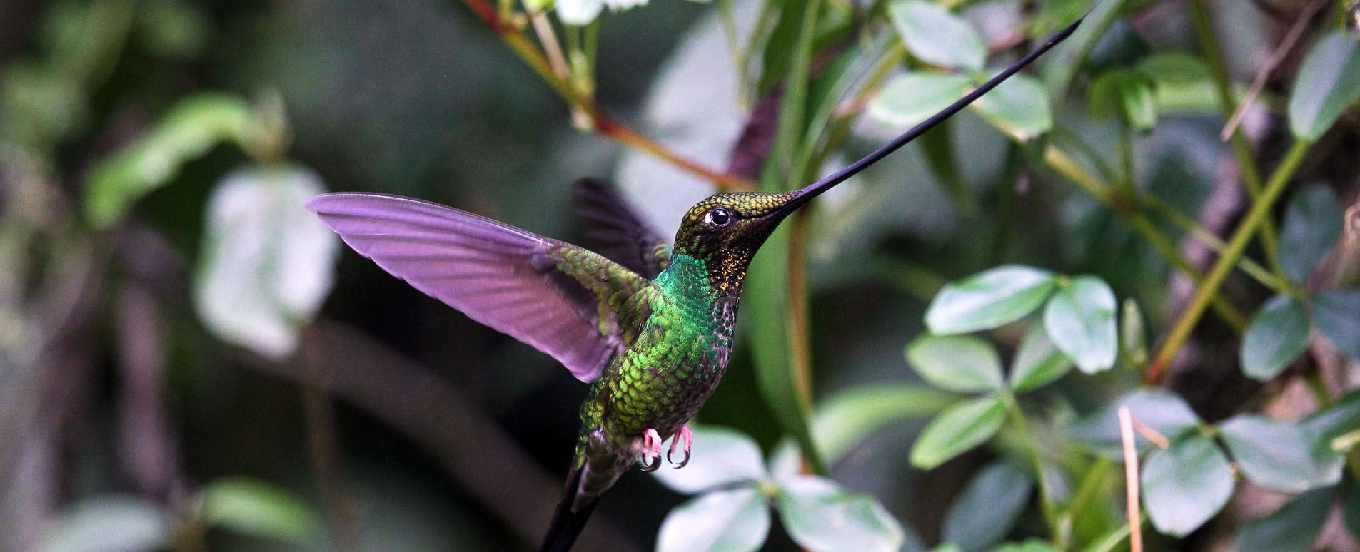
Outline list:
[[[1030,503],[1034,481],[1004,460],[978,470],[949,504],[944,517],[945,542],[964,551],[985,551],[1000,542]]]

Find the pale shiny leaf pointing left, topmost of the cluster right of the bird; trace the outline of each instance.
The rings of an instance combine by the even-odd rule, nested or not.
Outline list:
[[[930,307],[926,326],[932,333],[967,333],[998,328],[1030,314],[1053,291],[1049,271],[1002,265],[945,284]]]

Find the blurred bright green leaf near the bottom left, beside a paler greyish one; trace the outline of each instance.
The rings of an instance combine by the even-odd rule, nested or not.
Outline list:
[[[241,534],[305,542],[321,529],[321,517],[282,487],[250,477],[223,477],[201,491],[203,522]]]

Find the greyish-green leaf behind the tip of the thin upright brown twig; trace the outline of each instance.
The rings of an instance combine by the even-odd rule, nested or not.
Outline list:
[[[1073,423],[1069,427],[1072,436],[1093,445],[1102,455],[1122,458],[1117,416],[1119,407],[1129,407],[1133,417],[1172,441],[1200,426],[1200,417],[1185,400],[1168,390],[1149,387],[1129,392],[1093,416]],[[1137,443],[1140,451],[1152,446],[1142,438],[1138,438]]]

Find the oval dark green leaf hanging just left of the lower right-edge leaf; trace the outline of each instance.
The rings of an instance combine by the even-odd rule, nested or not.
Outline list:
[[[1259,381],[1274,378],[1308,347],[1308,313],[1295,298],[1270,298],[1242,337],[1242,371]]]

